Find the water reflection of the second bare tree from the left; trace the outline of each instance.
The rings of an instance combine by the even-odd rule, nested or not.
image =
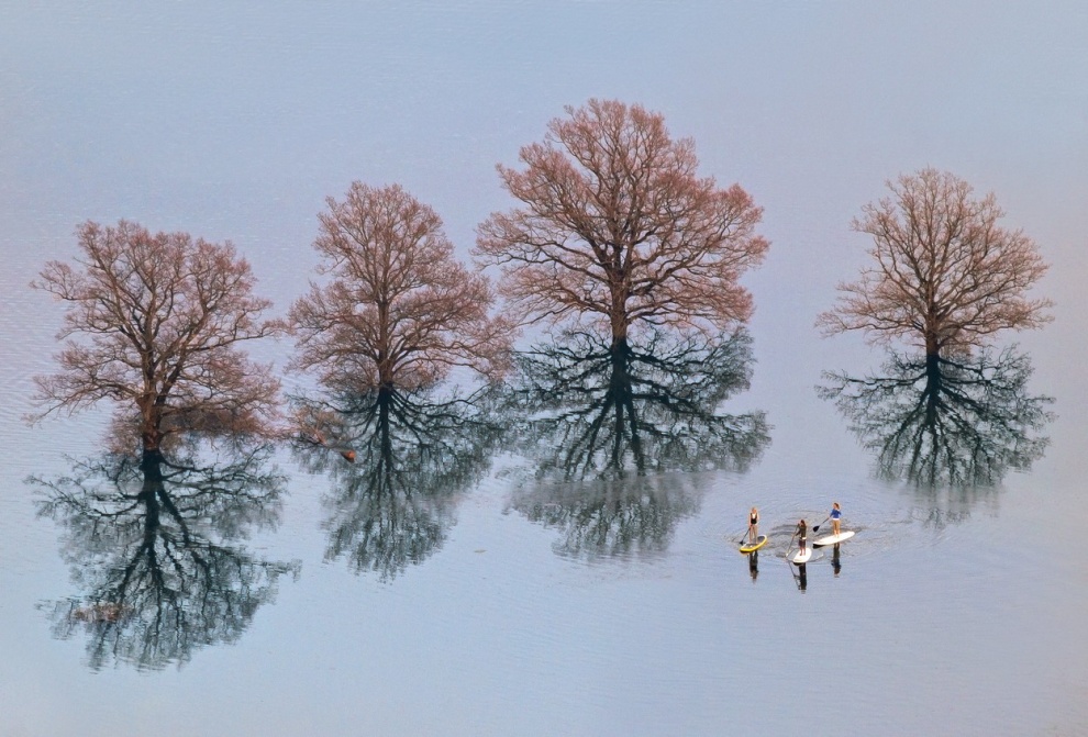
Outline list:
[[[382,389],[329,401],[296,400],[304,466],[330,471],[326,559],[397,576],[445,541],[453,499],[490,468],[499,426],[486,397],[436,402]],[[344,462],[344,458],[352,462]]]

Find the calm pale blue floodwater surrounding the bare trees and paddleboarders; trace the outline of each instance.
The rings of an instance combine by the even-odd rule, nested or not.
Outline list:
[[[0,736],[1088,733],[1086,36],[1074,3],[2,11]],[[467,259],[509,206],[493,166],[595,96],[659,110],[765,208],[751,387],[720,407],[744,443],[687,417],[690,444],[640,446],[645,474],[571,478],[515,405],[498,436],[429,426],[445,456],[277,449],[209,509],[207,479],[88,466],[104,413],[23,421],[62,315],[27,284],[78,223],[231,239],[281,313],[325,197],[400,182]],[[815,390],[880,376],[882,350],[813,322],[864,263],[851,217],[925,165],[993,191],[1052,264],[1054,323],[999,346],[1054,400],[1024,436],[1046,442],[993,415],[950,436],[992,450],[956,472],[993,483],[913,483]],[[51,482],[73,501],[42,514]],[[786,562],[833,501],[856,536]],[[123,612],[118,571],[146,594]]]

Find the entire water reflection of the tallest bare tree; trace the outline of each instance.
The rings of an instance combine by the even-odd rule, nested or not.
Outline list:
[[[768,443],[762,412],[718,412],[747,388],[751,366],[743,332],[712,342],[654,333],[615,351],[567,333],[521,356],[508,406],[536,481],[513,509],[560,529],[560,555],[663,551],[698,511],[700,478],[665,472],[744,471]]]

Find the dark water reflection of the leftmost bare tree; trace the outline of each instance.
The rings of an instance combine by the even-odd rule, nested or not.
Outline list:
[[[285,479],[265,461],[260,451],[211,467],[107,456],[68,477],[32,478],[45,491],[40,514],[66,528],[64,556],[86,592],[54,605],[56,636],[82,628],[96,670],[111,657],[180,665],[235,641],[277,579],[298,569],[234,545],[278,521]]]

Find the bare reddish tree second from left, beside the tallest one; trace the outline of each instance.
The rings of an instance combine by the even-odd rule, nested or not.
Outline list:
[[[327,204],[313,246],[332,280],[291,306],[293,368],[354,393],[431,387],[455,366],[504,370],[510,325],[488,316],[487,278],[456,261],[431,208],[397,185],[360,182]]]

